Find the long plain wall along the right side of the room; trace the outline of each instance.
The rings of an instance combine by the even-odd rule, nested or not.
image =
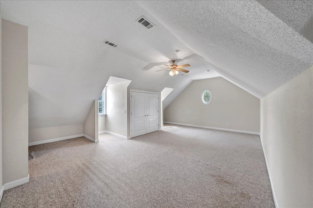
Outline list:
[[[261,139],[277,207],[313,207],[313,66],[261,99]]]

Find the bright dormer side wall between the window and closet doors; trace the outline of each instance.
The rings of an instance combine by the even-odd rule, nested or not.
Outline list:
[[[127,137],[127,87],[131,81],[107,86],[106,130]]]

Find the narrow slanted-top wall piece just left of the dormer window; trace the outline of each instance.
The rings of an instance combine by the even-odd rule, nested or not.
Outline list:
[[[98,99],[92,101],[91,108],[84,122],[84,134],[98,141]]]

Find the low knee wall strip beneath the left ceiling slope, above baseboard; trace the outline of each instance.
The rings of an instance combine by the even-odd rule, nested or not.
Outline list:
[[[57,139],[67,136],[80,135],[83,133],[84,127],[82,124],[29,129],[28,142],[32,143],[48,139]]]

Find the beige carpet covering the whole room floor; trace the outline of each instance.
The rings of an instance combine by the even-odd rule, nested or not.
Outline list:
[[[273,208],[257,135],[168,125],[29,147],[30,182],[1,208]]]

